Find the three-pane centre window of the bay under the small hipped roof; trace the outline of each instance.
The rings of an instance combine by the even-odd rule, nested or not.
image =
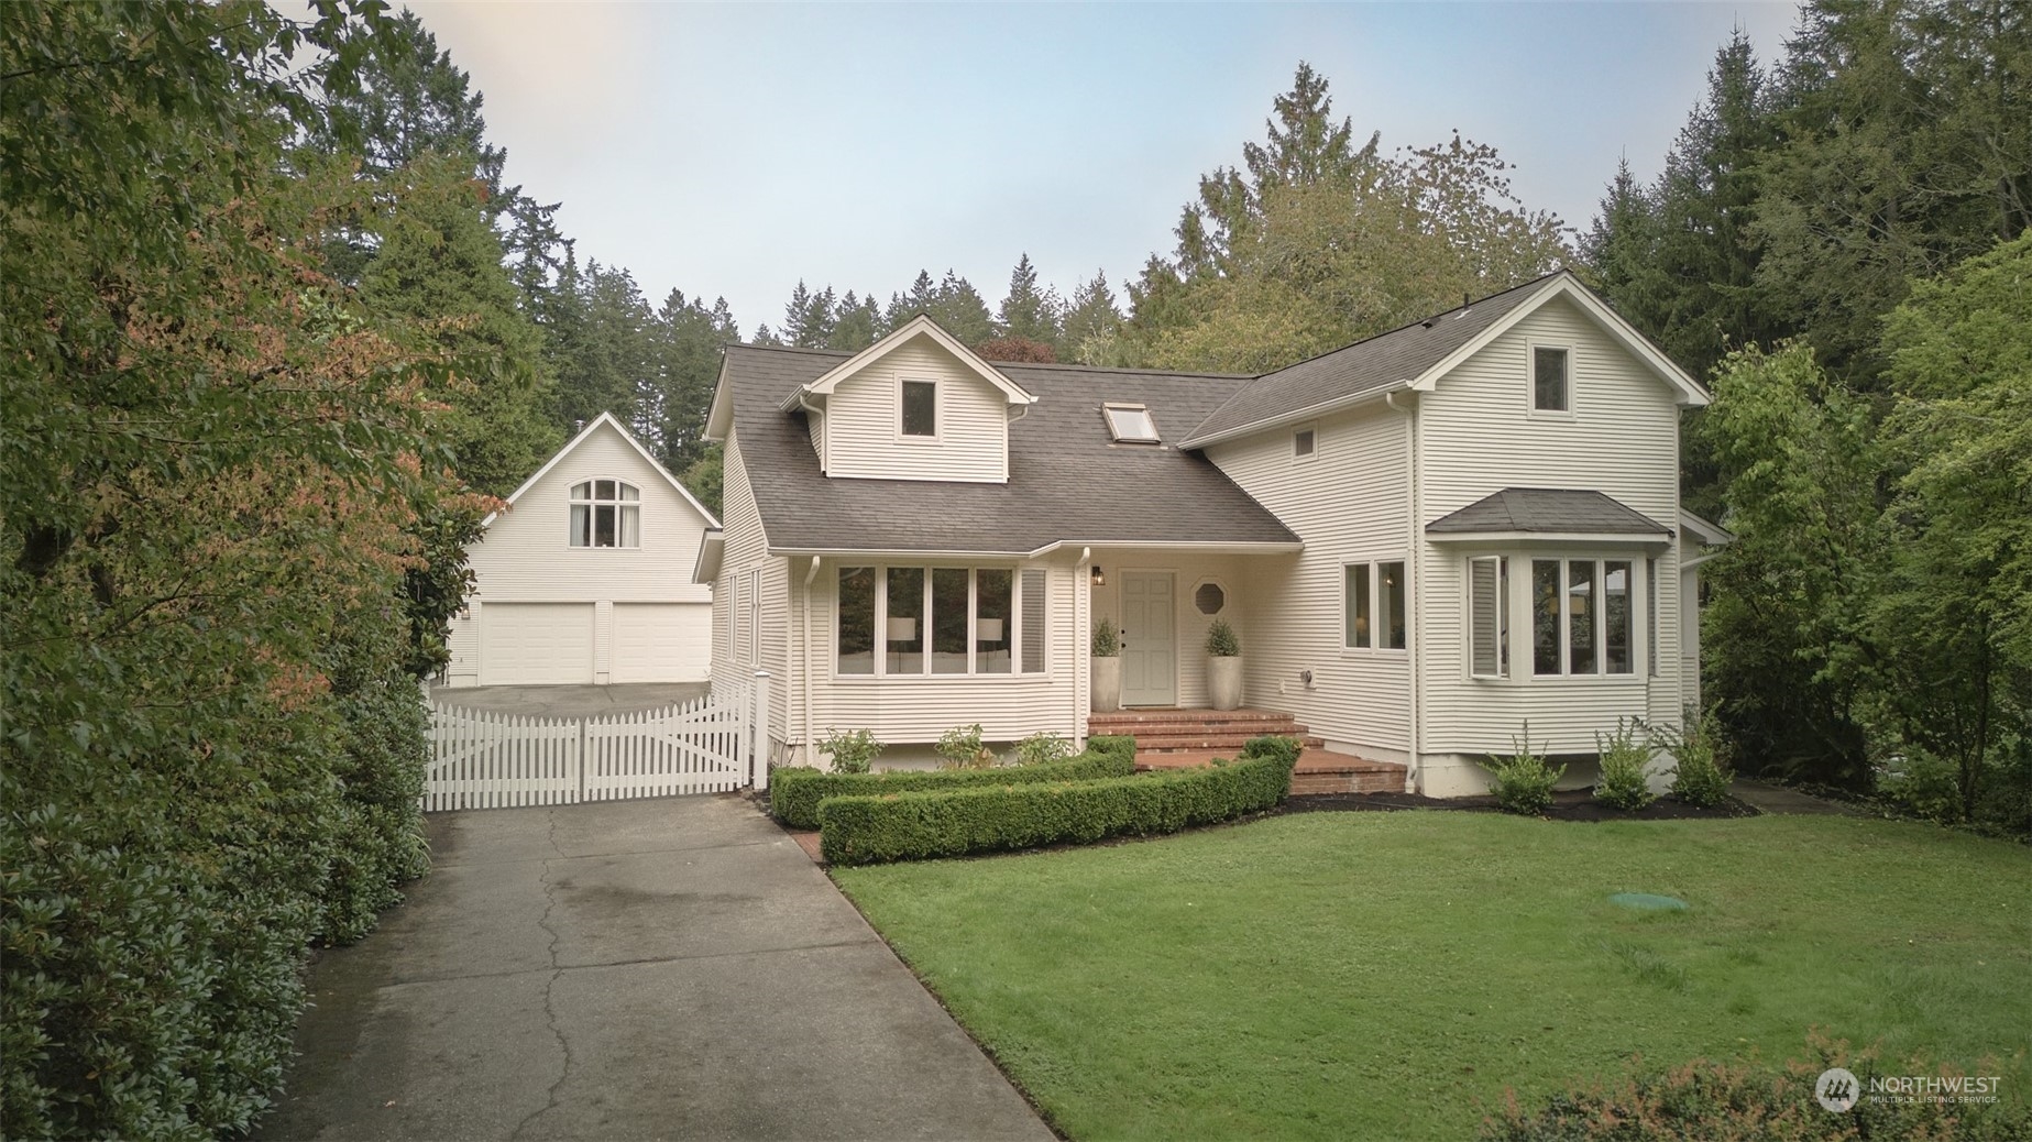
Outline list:
[[[1636,673],[1634,561],[1530,561],[1532,675]]]

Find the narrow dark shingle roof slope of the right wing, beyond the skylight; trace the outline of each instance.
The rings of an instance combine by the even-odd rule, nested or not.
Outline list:
[[[1428,317],[1402,329],[1378,333],[1368,341],[1355,341],[1331,354],[1266,372],[1244,384],[1185,439],[1189,445],[1199,447],[1205,441],[1272,425],[1282,419],[1305,417],[1414,380],[1424,370],[1447,360],[1461,345],[1473,341],[1489,325],[1502,321],[1518,305],[1530,301],[1563,272],[1559,270],[1534,282],[1483,297],[1461,309],[1449,309],[1439,317]]]

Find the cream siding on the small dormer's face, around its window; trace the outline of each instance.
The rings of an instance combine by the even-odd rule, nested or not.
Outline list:
[[[937,439],[900,433],[898,382],[939,384]],[[1008,480],[1008,396],[931,337],[868,362],[825,398],[825,473],[866,480]]]

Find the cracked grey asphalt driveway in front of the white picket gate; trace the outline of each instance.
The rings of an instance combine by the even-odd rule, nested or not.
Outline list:
[[[431,845],[313,965],[254,1138],[1053,1138],[738,795],[443,813]]]

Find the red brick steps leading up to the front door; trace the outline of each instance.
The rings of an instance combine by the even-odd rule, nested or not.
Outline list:
[[[1095,713],[1089,734],[1136,738],[1138,770],[1205,766],[1213,758],[1233,758],[1250,738],[1266,734],[1298,738],[1305,752],[1290,774],[1290,792],[1404,792],[1404,766],[1333,754],[1292,715],[1274,709],[1126,709]]]

